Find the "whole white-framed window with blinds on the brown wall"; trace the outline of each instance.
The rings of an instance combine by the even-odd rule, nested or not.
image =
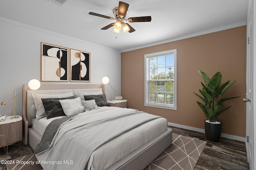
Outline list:
[[[145,55],[145,106],[177,109],[177,50]]]

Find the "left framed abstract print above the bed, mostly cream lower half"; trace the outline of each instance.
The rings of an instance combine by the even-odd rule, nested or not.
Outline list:
[[[68,82],[68,48],[41,42],[41,81]]]

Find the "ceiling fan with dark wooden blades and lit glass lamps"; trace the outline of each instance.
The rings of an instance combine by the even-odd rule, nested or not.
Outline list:
[[[103,30],[106,30],[106,29],[114,26],[114,32],[116,32],[116,33],[120,32],[121,27],[123,27],[124,32],[128,31],[129,33],[132,33],[135,31],[135,29],[131,25],[129,25],[128,23],[125,23],[124,21],[128,21],[128,22],[150,22],[151,21],[151,16],[131,17],[131,18],[126,19],[125,16],[128,12],[128,7],[129,7],[129,4],[119,1],[119,6],[113,9],[115,18],[109,17],[109,16],[104,16],[104,15],[97,14],[94,12],[89,12],[89,14],[93,15],[93,16],[107,18],[110,20],[116,20],[115,23],[110,23],[109,25],[101,28]]]

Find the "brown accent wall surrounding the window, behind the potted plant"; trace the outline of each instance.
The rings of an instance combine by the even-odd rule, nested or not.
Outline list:
[[[177,49],[177,110],[144,106],[144,55]],[[221,113],[222,133],[245,137],[246,107],[246,26],[191,37],[152,47],[121,53],[121,95],[128,100],[129,108],[165,117],[168,122],[204,129],[206,116],[193,92],[199,93],[198,74],[203,70],[211,78],[222,73],[222,83],[236,82],[224,96],[241,96],[224,102],[232,106]]]

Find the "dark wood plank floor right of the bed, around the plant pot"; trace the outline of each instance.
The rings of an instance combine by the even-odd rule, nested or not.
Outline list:
[[[173,133],[207,141],[204,133],[169,126]],[[227,138],[207,141],[194,170],[249,170],[245,143]]]

